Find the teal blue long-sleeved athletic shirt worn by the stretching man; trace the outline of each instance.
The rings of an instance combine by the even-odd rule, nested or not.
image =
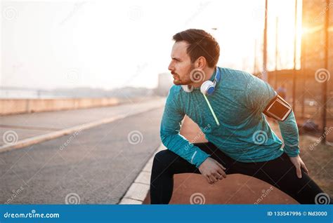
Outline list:
[[[199,167],[209,154],[179,134],[185,114],[200,127],[206,139],[223,153],[244,163],[270,161],[281,156],[299,154],[299,131],[294,113],[279,121],[282,141],[270,128],[263,109],[277,95],[261,79],[247,72],[216,67],[220,81],[207,99],[214,109],[219,126],[200,92],[187,93],[181,86],[172,86],[166,98],[160,136],[164,146],[186,161]],[[211,76],[214,80],[216,70]]]

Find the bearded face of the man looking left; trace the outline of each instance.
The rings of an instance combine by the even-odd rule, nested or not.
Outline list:
[[[168,69],[174,77],[175,85],[188,85],[192,83],[190,72],[194,69],[194,65],[191,63],[190,56],[186,53],[187,48],[187,42],[179,41],[174,43],[171,50],[171,62]]]

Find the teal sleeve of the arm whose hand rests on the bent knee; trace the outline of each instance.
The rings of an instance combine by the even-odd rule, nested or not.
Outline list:
[[[160,128],[161,140],[167,149],[178,154],[178,156],[181,156],[198,168],[201,163],[209,157],[209,154],[206,154],[199,147],[195,147],[194,144],[188,142],[185,137],[180,135],[181,121],[185,114],[183,113],[180,104],[176,103],[178,100],[177,90],[178,89],[175,86],[171,88],[169,95],[166,98]]]

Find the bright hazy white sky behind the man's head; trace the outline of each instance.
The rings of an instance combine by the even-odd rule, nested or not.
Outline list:
[[[291,69],[294,1],[268,2],[268,69],[275,69],[277,17],[278,69]],[[172,36],[189,28],[216,38],[218,66],[253,73],[255,48],[257,69],[262,65],[264,6],[264,0],[1,1],[1,86],[155,88],[158,74],[169,72]],[[297,26],[299,39],[300,19]]]

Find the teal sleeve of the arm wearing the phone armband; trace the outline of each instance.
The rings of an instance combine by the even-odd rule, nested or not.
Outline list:
[[[275,97],[277,93],[265,81],[253,76],[249,81],[247,88],[247,103],[249,107],[261,114],[266,108],[268,102]],[[285,121],[279,121],[279,127],[283,141],[285,143],[285,152],[288,156],[297,156],[299,154],[299,130],[296,125],[294,112],[291,112]]]

